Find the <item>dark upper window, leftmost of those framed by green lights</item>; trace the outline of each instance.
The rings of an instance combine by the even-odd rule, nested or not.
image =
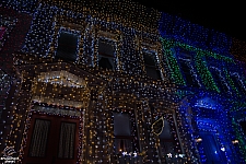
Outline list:
[[[198,81],[195,79],[194,74],[191,73],[191,70],[190,70],[188,63],[184,60],[179,60],[179,66],[180,66],[180,70],[181,70],[181,73],[184,75],[187,86],[199,87]]]

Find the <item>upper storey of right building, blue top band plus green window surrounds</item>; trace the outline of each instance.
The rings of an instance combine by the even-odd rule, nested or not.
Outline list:
[[[221,92],[209,70],[211,59],[218,62],[216,67],[221,69],[223,78],[230,87],[232,87],[233,92],[238,91],[230,77],[230,71],[232,71],[232,69],[234,72],[238,72],[245,82],[245,73],[242,68],[242,66],[245,65],[234,59],[234,55],[231,54],[231,47],[233,47],[232,43],[234,42],[225,34],[213,30],[207,30],[166,13],[162,13],[160,34],[169,74],[176,84],[186,85],[177,61],[177,49],[179,48],[186,49],[192,54],[195,68],[198,72],[196,75],[200,77],[202,85],[207,90]],[[235,50],[234,48],[234,51]]]

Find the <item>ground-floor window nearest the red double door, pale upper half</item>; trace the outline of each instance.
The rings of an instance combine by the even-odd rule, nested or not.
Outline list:
[[[136,134],[132,132],[134,126],[131,122],[129,114],[124,113],[113,113],[114,115],[114,145],[116,154],[122,152],[137,152],[138,141],[136,140]]]

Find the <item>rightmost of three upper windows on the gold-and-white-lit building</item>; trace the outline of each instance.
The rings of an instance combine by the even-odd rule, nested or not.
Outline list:
[[[161,80],[161,71],[156,67],[154,55],[143,52],[143,61],[145,66],[147,75],[154,80]]]

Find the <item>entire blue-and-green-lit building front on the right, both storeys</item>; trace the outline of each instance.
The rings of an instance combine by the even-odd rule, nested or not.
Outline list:
[[[245,109],[238,104],[245,101],[245,96],[239,93],[230,74],[238,72],[245,81],[244,68],[242,67],[244,63],[234,58],[238,57],[238,55],[234,55],[235,52],[241,52],[239,49],[235,48],[235,39],[166,13],[162,13],[160,34],[171,79],[174,83],[183,86],[177,91],[183,104],[178,113],[184,118],[185,126],[183,128],[186,131],[185,134],[183,133],[184,142],[187,143],[191,161],[206,163],[211,159],[218,160],[216,156],[204,153],[206,147],[202,145],[206,144],[204,142],[195,142],[197,138],[201,137],[200,132],[211,132],[218,141],[218,148],[219,151],[222,151],[221,157],[224,161],[245,163],[245,138],[238,124],[239,118],[242,119],[245,113]],[[202,82],[201,87],[186,86],[177,59],[177,49],[179,48],[192,54],[197,70],[196,75],[200,77]],[[210,67],[216,67],[221,70],[230,92],[223,94],[220,91],[213,80]],[[212,101],[219,103],[211,106]],[[204,105],[206,102],[207,105]],[[190,113],[189,108],[191,108]],[[232,114],[239,118],[235,120]],[[195,127],[191,126],[192,121]],[[232,143],[232,140],[235,139],[239,140],[238,147]],[[199,152],[199,155],[196,152]],[[239,155],[241,157],[238,157]]]

